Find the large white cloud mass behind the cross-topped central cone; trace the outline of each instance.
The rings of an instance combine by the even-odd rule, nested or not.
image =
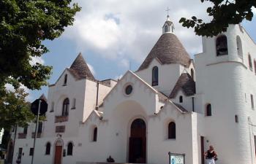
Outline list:
[[[94,52],[103,58],[124,59],[121,63],[130,59],[140,63],[161,36],[167,15],[165,9],[169,6],[176,35],[184,47],[190,54],[202,51],[200,37],[195,36],[192,29],[182,27],[178,20],[193,15],[207,20],[207,3],[198,0],[74,2],[78,2],[82,10],[75,16],[74,26],[64,32],[64,37],[76,42],[79,50]]]

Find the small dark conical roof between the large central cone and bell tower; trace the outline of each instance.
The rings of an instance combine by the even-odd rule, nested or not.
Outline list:
[[[195,81],[192,79],[190,74],[184,73],[178,78],[176,85],[173,87],[172,92],[169,95],[169,98],[175,98],[178,90],[182,90],[185,95],[195,95]]]

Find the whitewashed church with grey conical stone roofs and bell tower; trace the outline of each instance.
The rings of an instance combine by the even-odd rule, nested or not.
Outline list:
[[[99,81],[81,54],[48,89],[46,120],[12,132],[7,160],[21,164],[256,164],[256,45],[240,25],[203,37],[190,58],[167,17],[137,71]],[[15,141],[15,143],[14,143]],[[14,152],[12,153],[12,148]],[[13,154],[13,157],[12,157]]]

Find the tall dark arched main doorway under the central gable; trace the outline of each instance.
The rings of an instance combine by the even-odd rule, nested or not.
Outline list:
[[[146,163],[146,123],[136,119],[129,137],[129,163]]]

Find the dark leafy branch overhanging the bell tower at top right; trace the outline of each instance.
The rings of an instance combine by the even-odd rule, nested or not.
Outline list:
[[[199,36],[217,36],[227,31],[229,24],[241,23],[244,19],[251,21],[253,17],[252,7],[256,7],[255,0],[200,0],[202,3],[211,1],[213,7],[208,7],[206,12],[212,20],[208,23],[192,16],[192,19],[181,17],[179,23],[187,28],[194,28]]]

